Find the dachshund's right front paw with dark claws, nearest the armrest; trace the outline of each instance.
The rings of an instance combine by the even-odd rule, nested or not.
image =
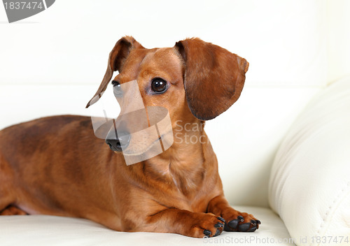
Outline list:
[[[260,220],[255,219],[253,215],[246,212],[238,212],[237,210],[233,210],[223,217],[226,221],[224,226],[225,231],[253,232],[259,229],[259,225],[261,224]]]

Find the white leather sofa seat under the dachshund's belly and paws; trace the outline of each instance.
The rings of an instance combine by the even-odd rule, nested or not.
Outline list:
[[[125,233],[106,229],[87,219],[55,217],[48,215],[0,216],[0,245],[264,245],[290,238],[283,222],[268,208],[235,206],[260,219],[260,229],[253,233],[223,231],[215,238],[189,238],[172,233]]]

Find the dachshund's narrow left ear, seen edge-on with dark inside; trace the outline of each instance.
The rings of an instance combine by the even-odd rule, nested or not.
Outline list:
[[[106,90],[107,85],[111,81],[112,75],[114,71],[121,71],[123,68],[123,64],[125,59],[130,53],[130,50],[134,48],[144,48],[141,44],[139,44],[132,36],[125,36],[120,38],[116,45],[114,45],[113,50],[109,53],[109,64],[107,66],[106,73],[104,74],[104,79],[99,85],[99,89],[97,89],[96,94],[92,97],[92,99],[87,103],[86,108],[96,103],[102,96],[103,92]]]

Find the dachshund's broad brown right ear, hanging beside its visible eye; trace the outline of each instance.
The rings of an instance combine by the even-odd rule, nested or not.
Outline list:
[[[228,110],[241,94],[248,61],[200,38],[179,41],[175,47],[185,64],[183,83],[193,115],[211,120]]]

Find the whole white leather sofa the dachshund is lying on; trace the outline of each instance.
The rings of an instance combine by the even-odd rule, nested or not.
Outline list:
[[[205,129],[225,196],[262,224],[254,233],[195,239],[1,216],[0,245],[350,245],[349,11],[340,0],[77,0],[1,23],[0,129],[87,115],[107,55],[125,34],[149,48],[198,36],[246,58],[240,99]],[[168,14],[160,21],[156,13]]]

